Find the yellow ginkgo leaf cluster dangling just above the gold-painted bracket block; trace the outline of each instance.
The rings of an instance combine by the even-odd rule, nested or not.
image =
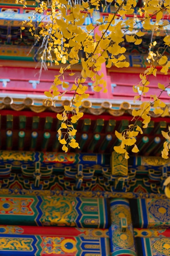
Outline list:
[[[138,125],[134,126],[133,124],[130,124],[128,127],[128,129],[124,130],[121,133],[115,131],[115,135],[119,139],[119,141],[121,141],[121,144],[120,146],[114,146],[114,150],[119,154],[125,154],[126,159],[129,158],[128,148],[130,148],[131,146],[131,151],[133,153],[139,152],[139,149],[135,144],[137,141],[136,137],[139,132],[143,134],[142,129]]]

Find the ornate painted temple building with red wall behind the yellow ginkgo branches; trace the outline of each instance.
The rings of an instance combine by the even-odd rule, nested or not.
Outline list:
[[[170,125],[169,89],[161,94],[165,111],[150,111],[150,124],[137,139],[139,154],[127,160],[113,150],[120,144],[115,130],[132,124],[132,109],[138,108],[132,85],[148,65],[150,35],[141,45],[124,42],[130,67],[103,64],[107,93],[95,92],[87,79],[90,97],[75,124],[80,149],[63,153],[56,115],[73,95],[65,94],[56,106],[46,102],[44,91],[61,65],[40,76],[40,46],[32,47],[29,28],[20,37],[22,20],[35,7],[35,1],[26,2],[23,9],[15,0],[0,0],[0,256],[170,256],[170,199],[163,185],[170,160],[161,158],[161,130]],[[110,6],[96,15],[112,11]],[[37,13],[35,20],[41,19]],[[87,17],[86,25],[91,22]],[[163,44],[161,35],[157,42]],[[78,76],[81,65],[74,72]],[[73,77],[66,79],[71,87]],[[158,80],[169,83],[169,75],[158,70],[150,94],[157,94]]]

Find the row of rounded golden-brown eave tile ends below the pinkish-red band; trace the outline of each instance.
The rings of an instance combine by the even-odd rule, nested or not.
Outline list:
[[[96,100],[97,101],[97,100]],[[46,99],[15,99],[11,97],[0,98],[0,110],[11,109],[15,111],[31,110],[35,113],[41,113],[44,111],[60,113],[64,111],[64,105],[69,104],[69,100],[53,101]],[[139,108],[139,105],[130,104],[129,102],[123,101],[122,103],[111,103],[110,101],[103,101],[101,103],[91,102],[85,100],[82,102],[80,108],[81,112],[88,113],[91,115],[102,115],[107,113],[113,117],[123,116],[124,114],[132,115],[132,109]],[[150,116],[157,117],[170,117],[170,104],[167,104],[164,108],[163,114],[156,115],[153,111],[150,111]]]

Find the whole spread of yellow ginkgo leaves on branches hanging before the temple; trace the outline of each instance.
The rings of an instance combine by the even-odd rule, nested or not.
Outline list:
[[[26,5],[25,0],[15,0],[18,4]],[[63,150],[66,152],[68,146],[73,148],[78,147],[75,141],[76,130],[73,124],[82,117],[80,112],[82,100],[88,98],[88,87],[84,85],[86,79],[90,78],[92,81],[93,90],[95,92],[107,92],[106,80],[102,73],[103,64],[106,67],[115,65],[116,67],[128,67],[129,63],[126,61],[126,48],[123,42],[134,43],[140,45],[142,37],[151,33],[151,42],[148,51],[148,67],[143,74],[140,74],[141,82],[133,86],[134,92],[138,95],[134,100],[141,100],[141,95],[149,92],[149,78],[151,75],[157,75],[157,65],[161,66],[161,72],[168,74],[170,61],[165,55],[166,49],[170,45],[170,36],[166,35],[163,39],[164,49],[155,51],[157,41],[152,41],[153,35],[159,35],[160,31],[166,30],[169,24],[167,20],[161,20],[163,15],[167,12],[170,14],[169,0],[145,0],[144,6],[140,8],[140,20],[136,15],[132,18],[125,19],[126,15],[135,12],[137,4],[136,0],[107,0],[109,3],[114,3],[115,13],[110,13],[108,16],[100,17],[94,23],[84,25],[86,18],[96,13],[102,3],[102,0],[82,1],[82,4],[77,4],[74,0],[44,0],[39,1],[39,6],[35,8],[36,14],[42,15],[41,22],[35,26],[33,17],[29,20],[23,21],[21,31],[25,27],[29,27],[29,31],[37,41],[41,42],[40,49],[43,49],[41,54],[42,66],[50,63],[59,65],[64,64],[60,68],[59,74],[55,76],[53,85],[45,95],[52,100],[56,97],[61,100],[66,92],[73,92],[73,98],[69,106],[64,106],[64,112],[57,114],[57,118],[62,121],[62,126],[58,130],[59,140],[63,144]],[[156,16],[155,22],[152,16]],[[141,23],[142,29],[137,30],[136,25]],[[97,32],[96,32],[97,29]],[[134,33],[135,30],[135,33]],[[94,34],[94,36],[93,36]],[[85,54],[84,58],[80,58],[80,52]],[[68,63],[68,65],[67,65]],[[75,78],[75,83],[72,88],[69,88],[68,83],[65,82],[65,73],[70,72],[69,75],[74,76],[72,72],[74,65],[81,63],[82,72],[79,77]],[[64,92],[61,94],[59,86],[62,85]],[[163,92],[166,87],[158,83],[158,88]],[[139,95],[140,92],[140,95]],[[152,99],[153,98],[153,99]],[[154,108],[155,114],[161,114],[165,104],[159,100],[159,96],[152,96],[149,102],[143,102],[139,110],[133,109],[132,115],[134,119],[143,119],[143,128],[146,128],[150,122],[150,107]],[[136,119],[136,120],[137,120]],[[132,148],[132,152],[138,152],[136,146],[136,136],[142,133],[141,128],[135,124],[123,133],[116,132],[116,136],[121,141],[121,145],[114,147],[119,153],[125,153],[128,158],[127,148]]]

